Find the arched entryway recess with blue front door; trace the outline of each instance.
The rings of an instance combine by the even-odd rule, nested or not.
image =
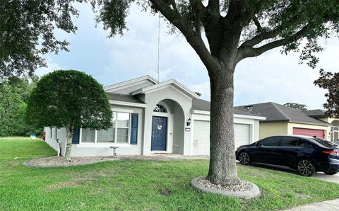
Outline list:
[[[172,99],[159,101],[152,115],[151,152],[184,152],[184,112]]]

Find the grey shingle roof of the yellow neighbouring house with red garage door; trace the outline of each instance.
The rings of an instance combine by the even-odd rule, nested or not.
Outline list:
[[[244,109],[246,106],[251,105],[242,105],[236,108]],[[253,104],[251,113],[266,116],[266,120],[263,120],[263,122],[297,122],[311,125],[329,125],[328,122],[311,118],[300,110],[272,102]]]

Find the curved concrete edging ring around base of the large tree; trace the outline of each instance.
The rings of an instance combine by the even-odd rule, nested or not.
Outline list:
[[[194,190],[201,190],[201,191],[206,192],[206,193],[215,193],[215,194],[219,194],[219,195],[223,195],[223,196],[233,196],[233,197],[237,197],[237,198],[258,198],[261,195],[258,186],[256,186],[254,183],[251,183],[251,185],[252,185],[251,190],[226,191],[226,190],[218,190],[218,189],[215,189],[215,188],[205,187],[205,186],[201,185],[201,183],[198,182],[198,179],[200,179],[200,178],[204,178],[204,176],[196,177],[191,181],[191,186],[192,186],[192,188],[194,188]]]

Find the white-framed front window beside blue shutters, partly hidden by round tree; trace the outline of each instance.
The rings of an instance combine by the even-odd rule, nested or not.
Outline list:
[[[113,112],[113,126],[98,130],[97,143],[129,143],[130,113]],[[95,131],[83,129],[81,142],[95,142]]]

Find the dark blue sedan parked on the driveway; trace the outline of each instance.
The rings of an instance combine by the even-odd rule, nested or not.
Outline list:
[[[240,146],[235,152],[240,164],[251,163],[287,166],[302,176],[317,171],[328,175],[339,172],[339,145],[324,139],[296,135],[280,135]]]

